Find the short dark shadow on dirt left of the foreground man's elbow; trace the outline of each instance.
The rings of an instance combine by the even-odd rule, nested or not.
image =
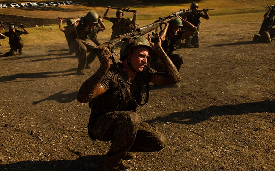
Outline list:
[[[55,100],[59,103],[69,103],[69,102],[75,100],[78,91],[71,91],[70,93],[64,93],[67,91],[69,91],[69,90],[62,90],[62,91],[55,93],[53,95],[50,95],[49,97],[44,98],[42,100],[34,101],[32,104],[38,104],[42,101],[47,101],[47,100]]]

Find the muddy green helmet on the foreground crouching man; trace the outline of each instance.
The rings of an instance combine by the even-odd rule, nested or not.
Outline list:
[[[139,47],[139,46],[145,46],[149,49],[149,53],[152,53],[154,50],[150,46],[149,41],[145,37],[138,37],[137,39],[134,39],[133,43],[129,43],[129,40],[125,40],[120,48],[120,53],[119,53],[119,60],[123,61],[128,52],[134,48],[134,47]]]

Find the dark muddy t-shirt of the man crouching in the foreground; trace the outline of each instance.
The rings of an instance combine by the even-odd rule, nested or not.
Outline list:
[[[125,72],[122,63],[119,62],[118,66],[121,70],[122,76],[127,80],[127,73]],[[130,88],[131,94],[138,104],[140,104],[142,100],[141,91],[143,85],[150,82],[150,79],[155,72],[156,71],[151,68],[144,69],[141,73],[137,73],[131,82],[126,82]],[[105,92],[90,102],[92,113],[100,114],[110,111],[130,111],[134,109],[134,104],[131,101],[124,84],[119,78],[118,71],[114,64],[111,65],[100,84],[105,89]]]

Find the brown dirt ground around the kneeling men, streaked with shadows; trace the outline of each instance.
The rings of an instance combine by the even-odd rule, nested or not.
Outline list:
[[[201,20],[201,47],[176,50],[184,58],[180,87],[150,85],[148,105],[137,111],[166,135],[167,146],[137,153],[125,166],[275,170],[275,44],[252,42],[262,15]],[[102,170],[110,142],[90,140],[88,104],[76,100],[99,60],[77,76],[65,38],[23,50],[0,57],[0,170]]]

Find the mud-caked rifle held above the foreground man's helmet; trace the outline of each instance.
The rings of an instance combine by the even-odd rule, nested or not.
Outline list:
[[[133,42],[135,38],[143,36],[143,35],[151,32],[153,30],[156,30],[158,27],[161,27],[162,24],[164,24],[168,21],[174,20],[175,19],[174,17],[182,14],[184,11],[186,11],[186,10],[180,10],[178,12],[170,14],[167,17],[160,17],[158,20],[154,21],[154,23],[151,23],[151,24],[148,24],[146,26],[137,28],[134,32],[119,35],[117,38],[112,39],[108,42],[103,43],[102,45],[99,45],[99,46],[93,48],[92,51],[94,53],[97,53],[97,50],[98,50],[99,47],[106,47],[112,53],[117,55],[117,52],[114,50],[114,48],[115,48],[115,45],[118,44],[119,42],[125,41],[127,39],[129,40],[129,42]],[[152,41],[154,40],[155,36],[156,36],[156,34],[153,35]]]

